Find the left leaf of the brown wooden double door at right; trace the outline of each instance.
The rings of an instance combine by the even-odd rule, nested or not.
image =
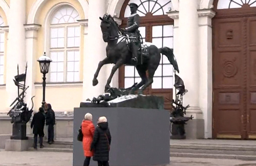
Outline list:
[[[213,137],[243,137],[242,18],[214,20]]]

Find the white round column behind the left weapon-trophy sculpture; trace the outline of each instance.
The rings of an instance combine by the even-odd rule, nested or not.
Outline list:
[[[9,18],[6,63],[7,107],[17,96],[17,87],[13,82],[14,75],[17,75],[17,64],[19,64],[20,73],[25,71],[25,29],[23,25],[26,21],[26,0],[10,1]]]

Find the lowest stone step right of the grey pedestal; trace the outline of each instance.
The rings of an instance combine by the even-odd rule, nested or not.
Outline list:
[[[256,161],[256,156],[252,155],[227,155],[227,154],[194,154],[194,153],[170,153],[170,157],[193,157],[208,159],[238,159],[245,161]]]

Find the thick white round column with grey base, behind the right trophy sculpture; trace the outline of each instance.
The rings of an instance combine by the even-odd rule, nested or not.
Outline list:
[[[186,135],[189,138],[204,137],[204,120],[201,107],[199,105],[199,26],[198,26],[198,0],[179,1],[179,29],[178,43],[179,49],[176,55],[179,65],[178,74],[184,81],[188,93],[183,96],[183,105],[190,105],[186,110],[186,116],[192,115],[193,120],[186,125]],[[175,36],[174,36],[175,38]],[[175,51],[176,52],[176,51]]]

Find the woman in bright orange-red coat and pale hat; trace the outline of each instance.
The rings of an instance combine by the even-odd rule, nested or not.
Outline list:
[[[83,149],[84,149],[84,166],[89,166],[93,152],[90,151],[91,142],[93,141],[93,135],[95,127],[92,122],[93,116],[90,113],[85,114],[84,120],[82,121],[82,133],[83,137]]]

